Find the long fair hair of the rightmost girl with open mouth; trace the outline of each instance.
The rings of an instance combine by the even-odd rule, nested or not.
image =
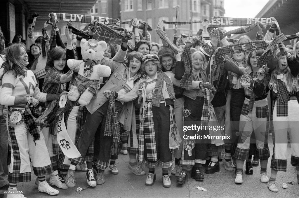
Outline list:
[[[287,53],[292,54],[292,50],[286,48],[286,51],[287,51]],[[280,53],[280,50],[277,50],[277,52],[276,52],[276,56],[278,57],[278,60],[281,58],[282,55],[281,55],[281,53]],[[277,60],[277,61],[278,61],[278,60]],[[271,87],[270,87],[270,84],[271,84],[271,83],[272,83],[273,85],[276,84],[277,72],[279,72],[279,73],[284,73],[284,72],[286,72],[286,73],[285,73],[285,75],[286,75],[286,81],[287,81],[288,86],[289,86],[289,88],[290,88],[290,90],[291,90],[291,88],[292,88],[292,84],[293,84],[293,81],[294,81],[295,76],[292,75],[289,66],[287,66],[284,70],[281,70],[281,69],[279,68],[278,64],[277,64],[276,68],[275,68],[275,69],[272,71],[272,73],[271,73],[271,79],[270,79],[270,82],[269,82],[269,88],[271,89]],[[297,79],[296,79],[296,80],[297,80]]]

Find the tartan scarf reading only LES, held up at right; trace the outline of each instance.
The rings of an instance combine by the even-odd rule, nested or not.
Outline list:
[[[218,53],[216,54],[216,57],[239,53],[239,52],[265,50],[267,48],[267,46],[268,45],[265,41],[241,42],[241,43],[236,43],[236,44],[232,44],[232,45],[226,45],[224,47],[219,48]],[[244,49],[244,47],[245,47],[245,49]]]

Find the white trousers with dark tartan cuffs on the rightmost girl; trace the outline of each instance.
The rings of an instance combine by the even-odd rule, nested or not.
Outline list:
[[[291,140],[291,165],[299,167],[299,104],[297,99],[291,97],[288,101],[288,116],[277,116],[276,101],[273,109],[273,127],[275,138],[273,142],[273,156],[271,160],[271,168],[277,171],[286,172],[286,157],[288,146],[288,133]],[[275,122],[274,122],[275,121]]]

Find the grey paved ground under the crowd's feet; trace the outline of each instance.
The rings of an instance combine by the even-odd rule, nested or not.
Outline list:
[[[272,137],[269,136],[269,147],[272,156],[273,144]],[[253,175],[243,174],[243,184],[236,185],[234,183],[235,174],[233,172],[225,171],[224,165],[220,162],[220,172],[215,174],[205,174],[204,182],[197,182],[194,179],[188,178],[188,181],[184,185],[176,184],[176,176],[170,177],[172,181],[171,188],[163,188],[162,186],[162,169],[156,169],[156,181],[152,186],[145,186],[144,182],[147,175],[136,176],[129,169],[127,165],[129,163],[129,155],[120,154],[117,160],[119,174],[112,175],[108,170],[105,171],[106,183],[103,185],[97,185],[96,187],[87,188],[84,191],[76,192],[77,187],[85,188],[86,173],[81,171],[75,172],[77,181],[76,188],[69,188],[66,190],[60,189],[60,194],[53,196],[55,198],[62,197],[254,197],[254,198],[282,198],[282,197],[294,197],[299,198],[299,184],[296,179],[295,167],[290,164],[291,147],[288,145],[288,160],[287,160],[287,172],[278,172],[276,184],[279,191],[273,193],[267,188],[267,184],[260,182],[260,166],[254,167]],[[270,160],[268,163],[268,176],[270,177]],[[245,167],[243,167],[245,172]],[[204,171],[204,168],[202,168]],[[33,172],[33,171],[32,171]],[[190,175],[190,173],[189,173]],[[32,175],[31,182],[18,183],[18,190],[23,190],[23,194],[26,197],[40,198],[40,197],[52,197],[45,193],[38,192],[37,186],[34,184],[36,179],[35,175]],[[282,188],[282,183],[294,181],[295,185],[288,184],[287,189]],[[198,190],[196,187],[203,187],[207,191]]]

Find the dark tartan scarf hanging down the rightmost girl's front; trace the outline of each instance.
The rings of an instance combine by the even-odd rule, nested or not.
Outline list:
[[[283,71],[283,73],[277,72],[277,75],[279,74],[285,74],[286,70]],[[290,100],[290,94],[289,91],[286,88],[285,83],[283,83],[282,79],[276,79],[276,115],[277,116],[288,116],[288,101]]]

